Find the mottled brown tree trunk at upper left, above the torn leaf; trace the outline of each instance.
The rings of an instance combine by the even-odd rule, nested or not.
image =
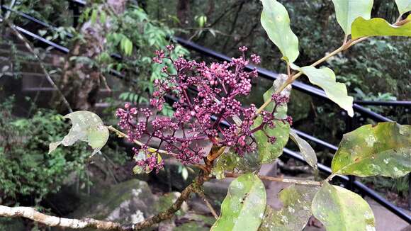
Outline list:
[[[106,4],[102,4],[99,11],[113,11],[114,14],[119,15],[125,11],[126,2],[127,0],[106,0]],[[79,27],[83,39],[74,42],[64,62],[59,88],[74,111],[92,111],[96,103],[103,75],[97,67],[84,63],[84,61],[81,62],[81,60],[96,60],[96,57],[103,52],[106,45],[106,34],[111,27],[110,13],[107,15],[104,24],[98,20],[95,23],[87,21]],[[81,57],[81,59],[73,59],[74,57]],[[55,108],[62,112],[58,104]]]

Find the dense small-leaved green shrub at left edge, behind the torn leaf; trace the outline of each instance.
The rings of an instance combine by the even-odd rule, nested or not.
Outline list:
[[[50,110],[16,118],[12,103],[0,104],[0,198],[5,203],[24,197],[39,203],[47,193],[59,191],[68,174],[84,170],[90,151],[75,145],[47,154],[49,143],[62,138],[70,125]]]

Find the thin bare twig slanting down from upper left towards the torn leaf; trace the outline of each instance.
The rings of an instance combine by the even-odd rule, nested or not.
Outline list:
[[[33,45],[31,45],[30,41],[28,41],[26,38],[24,38],[23,35],[21,35],[20,32],[18,32],[18,30],[16,30],[16,26],[13,25],[13,23],[11,23],[8,19],[3,18],[3,21],[6,22],[6,24],[9,26],[9,28],[11,29],[11,31],[13,32],[14,35],[16,35],[16,37],[21,40],[24,45],[26,45],[26,48],[33,53],[33,55],[35,56],[35,58],[38,60],[41,69],[43,70],[45,77],[47,79],[47,81],[52,85],[53,88],[55,88],[58,92],[58,94],[60,94],[60,97],[62,98],[62,101],[64,103],[64,105],[67,107],[67,109],[69,110],[70,113],[73,112],[72,107],[69,104],[69,101],[67,101],[66,97],[64,97],[64,94],[62,93],[62,91],[60,91],[60,89],[57,87],[57,85],[55,84],[55,82],[52,80],[52,77],[50,76],[50,74],[47,72],[47,69],[45,68],[45,64],[43,63],[43,61],[40,59],[40,57],[38,56],[38,54],[35,52]]]

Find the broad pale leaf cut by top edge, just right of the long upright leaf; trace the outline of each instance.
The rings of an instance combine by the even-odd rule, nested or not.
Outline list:
[[[344,33],[351,33],[351,23],[358,17],[371,18],[373,0],[332,0],[339,26]]]

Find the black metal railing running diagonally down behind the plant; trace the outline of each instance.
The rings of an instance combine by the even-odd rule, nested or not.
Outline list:
[[[68,0],[72,3],[71,7],[74,8],[73,12],[79,12],[79,9],[75,9],[78,8],[79,6],[85,6],[86,2],[85,1],[80,1],[80,0]],[[8,7],[4,7],[1,6],[2,10],[6,10],[6,11],[11,11],[13,13],[17,13],[19,16],[22,16],[30,21],[33,21],[35,23],[39,23],[42,26],[46,26],[46,27],[52,27],[50,26],[50,24],[48,23],[44,23],[42,21],[39,21],[38,19],[33,18],[32,16],[29,16],[26,13],[22,13],[22,12],[18,12],[18,11],[14,11],[12,9],[9,9]],[[74,22],[75,23],[75,22]],[[45,38],[42,38],[39,35],[36,35],[33,32],[30,32],[29,30],[26,30],[24,28],[21,28],[19,26],[16,26],[16,29],[18,31],[20,31],[21,33],[23,33],[24,35],[28,36],[29,38],[33,39],[33,40],[38,40],[41,43],[44,43],[45,45],[49,45],[51,47],[55,47],[56,50],[59,50],[60,52],[64,52],[64,53],[68,53],[69,49],[67,47],[64,47],[62,45],[58,45],[57,43],[54,43],[50,40],[46,40]],[[210,50],[206,47],[202,47],[201,45],[198,45],[196,43],[193,43],[191,41],[188,40],[184,40],[183,38],[178,38],[178,37],[174,37],[173,38],[177,43],[183,45],[184,47],[187,47],[189,50],[194,50],[196,52],[200,52],[202,55],[206,55],[208,57],[213,57],[216,60],[224,60],[227,62],[231,61],[230,57],[227,57],[226,55],[223,55],[219,52],[215,52],[214,50]],[[115,57],[119,57],[118,55],[113,55]],[[269,79],[271,81],[274,81],[277,77],[277,74],[274,72],[271,72],[267,69],[261,68],[261,67],[254,67],[252,65],[247,67],[248,69],[257,69],[257,72],[259,73],[259,76],[264,77],[265,79]],[[113,74],[116,77],[120,77],[120,78],[124,78],[122,74],[118,73],[118,72],[112,72],[111,74]],[[306,94],[309,94],[310,96],[315,96],[317,98],[322,98],[324,100],[330,101],[329,98],[327,98],[327,96],[325,95],[325,92],[322,91],[321,89],[317,89],[314,86],[310,86],[308,84],[304,84],[300,81],[295,81],[293,83],[293,88],[298,90],[298,91],[303,91]],[[172,97],[171,97],[172,99]],[[176,100],[175,98],[172,100]],[[392,121],[389,118],[385,118],[384,116],[381,116],[378,113],[374,113],[373,111],[370,111],[367,108],[364,108],[363,106],[360,106],[360,104],[362,105],[378,105],[378,106],[405,106],[405,107],[410,107],[411,103],[410,101],[390,101],[390,102],[374,102],[374,101],[355,101],[353,108],[354,111],[361,113],[361,115],[364,115],[368,118],[371,118],[373,120],[376,121]],[[313,137],[312,135],[308,135],[306,133],[303,133],[299,130],[294,130],[295,133],[297,133],[298,135],[300,135],[300,137],[305,138],[306,140],[310,140],[311,142],[314,142],[317,145],[321,145],[322,147],[328,148],[330,150],[337,150],[337,147],[325,142],[324,140],[320,140],[316,137]],[[289,150],[288,148],[284,148],[283,149],[284,154],[286,154],[288,157],[291,157],[293,159],[296,159],[300,162],[305,162],[305,160],[303,159],[303,157],[298,154],[297,152],[293,152],[291,150]],[[318,164],[318,168],[320,169],[320,171],[325,172],[327,174],[331,174],[331,169],[330,167],[326,167],[323,164]],[[357,190],[361,191],[361,193],[364,193],[364,195],[369,196],[370,198],[372,198],[374,201],[376,201],[377,203],[383,205],[383,207],[387,208],[388,210],[390,210],[391,212],[393,212],[395,215],[398,215],[398,217],[402,218],[402,220],[405,220],[406,222],[411,224],[411,216],[408,215],[407,213],[405,213],[403,210],[401,210],[400,208],[398,208],[397,206],[393,205],[392,203],[390,203],[389,201],[387,201],[385,198],[383,198],[382,196],[380,196],[378,193],[376,193],[375,191],[373,191],[371,188],[368,188],[367,186],[365,186],[364,184],[361,184],[361,182],[359,181],[355,181],[355,179],[353,179],[350,176],[336,176],[337,179],[344,181],[346,184],[345,186],[351,185],[352,187],[356,188]]]

